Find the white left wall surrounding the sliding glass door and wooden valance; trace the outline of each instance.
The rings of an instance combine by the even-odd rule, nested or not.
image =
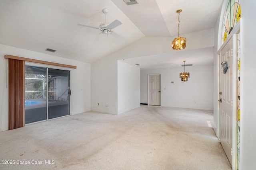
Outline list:
[[[90,111],[90,64],[0,44],[0,131],[8,130],[7,59],[4,55],[77,66],[71,70],[71,114]]]

